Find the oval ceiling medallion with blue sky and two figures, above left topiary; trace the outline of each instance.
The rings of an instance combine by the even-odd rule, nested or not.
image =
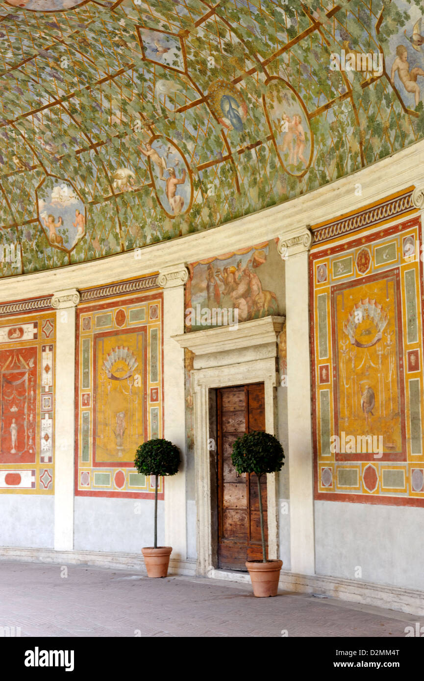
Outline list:
[[[157,200],[168,217],[190,210],[193,200],[192,178],[183,153],[168,138],[155,138],[144,146]]]

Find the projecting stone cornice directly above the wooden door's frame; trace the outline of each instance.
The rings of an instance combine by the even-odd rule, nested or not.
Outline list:
[[[207,355],[215,352],[228,352],[245,347],[277,343],[277,336],[282,331],[286,317],[262,317],[243,321],[237,327],[218,326],[202,331],[172,336],[180,347],[188,348],[195,355]]]

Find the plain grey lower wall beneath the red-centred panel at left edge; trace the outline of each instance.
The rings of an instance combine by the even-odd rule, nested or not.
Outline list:
[[[53,496],[0,494],[0,546],[53,548],[54,504]]]

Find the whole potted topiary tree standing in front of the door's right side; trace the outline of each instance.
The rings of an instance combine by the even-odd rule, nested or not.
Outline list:
[[[254,595],[276,596],[279,571],[282,560],[267,560],[264,533],[264,511],[262,509],[261,478],[266,473],[276,473],[284,466],[284,451],[279,441],[268,432],[253,430],[239,437],[232,445],[231,460],[237,473],[256,473],[258,477],[260,537],[262,539],[262,560],[247,560]],[[266,477],[265,477],[266,479]]]

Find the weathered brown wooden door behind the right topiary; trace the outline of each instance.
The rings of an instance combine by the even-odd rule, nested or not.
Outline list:
[[[262,559],[258,478],[239,475],[231,462],[232,445],[252,430],[265,430],[264,384],[217,390],[217,547],[218,567],[246,570],[246,560]],[[267,541],[267,484],[261,479]]]

